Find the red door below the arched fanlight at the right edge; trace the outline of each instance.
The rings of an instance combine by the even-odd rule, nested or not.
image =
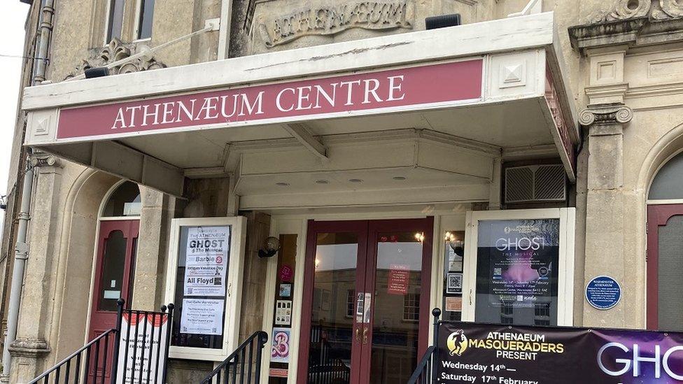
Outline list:
[[[667,300],[680,298],[680,247],[683,239],[683,204],[650,205],[647,207],[647,328],[677,331],[683,319],[675,318],[662,324],[661,320],[672,320],[667,312],[673,306]],[[673,253],[673,254],[672,254]],[[672,264],[673,263],[673,264]],[[671,274],[675,276],[670,276]],[[669,282],[673,281],[674,284]],[[680,316],[680,313],[678,313]],[[662,318],[663,316],[663,318]],[[676,314],[674,313],[675,317]],[[666,328],[666,329],[665,329]]]

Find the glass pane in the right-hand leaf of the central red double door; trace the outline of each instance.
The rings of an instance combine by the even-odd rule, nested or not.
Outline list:
[[[381,232],[375,239],[369,383],[407,383],[419,358],[421,239],[421,232]]]

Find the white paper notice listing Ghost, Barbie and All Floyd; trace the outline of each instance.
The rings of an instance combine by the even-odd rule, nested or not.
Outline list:
[[[184,296],[225,297],[230,227],[190,227]]]

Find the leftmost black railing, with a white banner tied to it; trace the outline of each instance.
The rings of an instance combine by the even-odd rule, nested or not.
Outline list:
[[[118,375],[124,375],[125,383],[166,383],[169,348],[159,347],[169,346],[173,304],[162,306],[162,312],[124,309],[124,304],[125,301],[118,301],[115,328],[99,334],[29,384],[110,384],[116,383]],[[127,325],[122,329],[124,319]],[[162,327],[154,332],[153,325],[163,322],[167,324],[166,332],[162,332]],[[150,368],[146,372],[140,370],[143,361]]]

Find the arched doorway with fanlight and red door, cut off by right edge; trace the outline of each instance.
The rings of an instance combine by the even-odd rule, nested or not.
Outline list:
[[[683,152],[657,171],[647,196],[647,328],[683,331]]]

